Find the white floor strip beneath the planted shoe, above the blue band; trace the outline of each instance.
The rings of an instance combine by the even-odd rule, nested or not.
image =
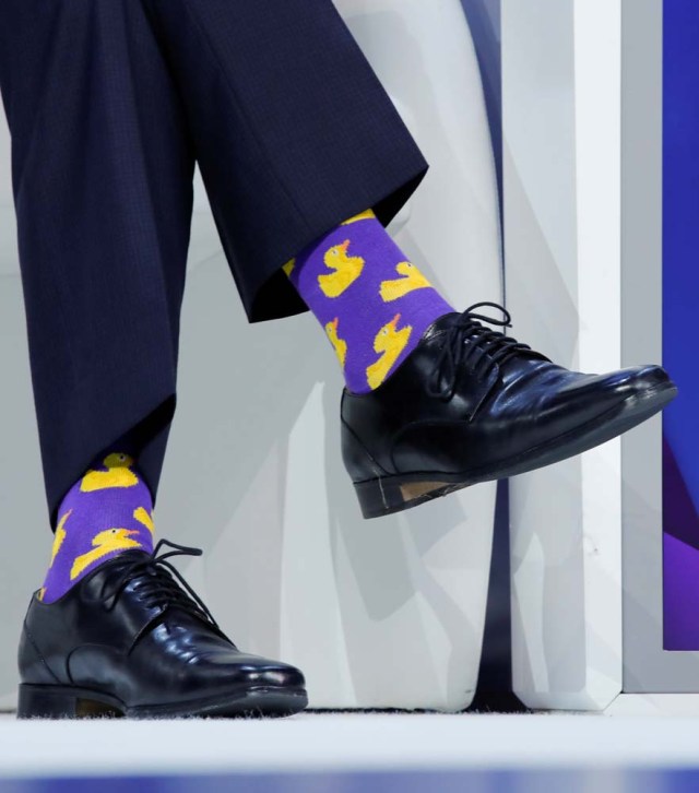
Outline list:
[[[696,720],[303,713],[264,721],[0,719],[0,777],[697,767]]]

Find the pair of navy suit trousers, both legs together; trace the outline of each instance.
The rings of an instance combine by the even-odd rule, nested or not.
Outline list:
[[[1,0],[0,91],[51,525],[117,439],[153,497],[199,164],[252,322],[280,268],[427,164],[330,0]]]

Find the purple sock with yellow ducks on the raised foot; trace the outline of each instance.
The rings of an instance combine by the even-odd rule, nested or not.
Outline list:
[[[324,328],[347,389],[378,388],[454,309],[368,210],[317,239],[284,272]]]

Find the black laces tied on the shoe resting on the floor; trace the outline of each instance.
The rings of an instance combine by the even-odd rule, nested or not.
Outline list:
[[[158,555],[161,547],[164,545],[174,548],[174,551]],[[111,611],[129,583],[134,578],[139,578],[134,592],[138,593],[146,607],[156,608],[162,606],[165,609],[168,606],[177,606],[220,630],[218,624],[201,597],[187,583],[181,573],[167,561],[173,556],[201,555],[200,548],[178,545],[169,540],[161,540],[153,553],[145,558],[142,554],[129,558],[131,553],[127,552],[118,557],[122,564],[114,578],[107,580],[108,590],[102,592],[99,600],[108,602],[108,611]]]

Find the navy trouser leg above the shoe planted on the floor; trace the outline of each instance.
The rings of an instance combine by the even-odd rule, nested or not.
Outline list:
[[[193,153],[141,0],[2,0],[0,90],[51,524],[126,436],[157,489]]]

